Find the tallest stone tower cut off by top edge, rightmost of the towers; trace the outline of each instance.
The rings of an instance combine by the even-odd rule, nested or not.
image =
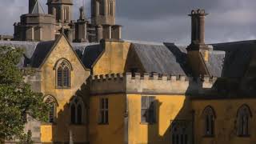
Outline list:
[[[91,0],[92,24],[115,25],[115,5],[115,0]]]

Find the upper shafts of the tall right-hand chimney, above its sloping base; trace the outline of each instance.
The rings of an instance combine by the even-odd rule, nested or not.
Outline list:
[[[205,44],[205,10],[192,10],[191,17],[191,44],[190,50],[208,49]]]

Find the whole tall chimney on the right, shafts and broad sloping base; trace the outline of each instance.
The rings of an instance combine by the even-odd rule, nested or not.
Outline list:
[[[209,46],[205,43],[205,10],[192,10],[191,43],[187,46],[187,61],[194,76],[210,75],[206,62],[209,61]]]

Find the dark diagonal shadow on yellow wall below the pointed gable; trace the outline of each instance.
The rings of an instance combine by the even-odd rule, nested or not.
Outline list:
[[[89,90],[83,84],[81,89],[70,98],[54,118],[52,124],[52,142],[54,143],[89,143]],[[47,134],[46,134],[47,135]]]

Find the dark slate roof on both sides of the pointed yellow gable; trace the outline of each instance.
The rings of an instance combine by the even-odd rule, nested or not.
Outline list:
[[[50,52],[54,41],[24,42],[24,41],[0,41],[0,46],[11,46],[24,50],[23,58],[18,66],[20,68],[32,66],[38,68]],[[74,51],[82,60],[84,66],[90,69],[95,60],[102,54],[103,48],[98,43],[72,43]]]

